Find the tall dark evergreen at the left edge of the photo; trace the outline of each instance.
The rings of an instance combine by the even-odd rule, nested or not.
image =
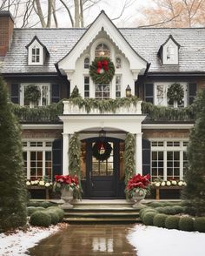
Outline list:
[[[8,103],[6,85],[0,77],[0,230],[24,226],[27,189],[23,171],[20,126]]]

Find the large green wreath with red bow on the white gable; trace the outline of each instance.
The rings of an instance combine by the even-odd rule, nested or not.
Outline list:
[[[89,67],[89,75],[95,84],[109,84],[115,74],[115,66],[109,57],[96,57]]]

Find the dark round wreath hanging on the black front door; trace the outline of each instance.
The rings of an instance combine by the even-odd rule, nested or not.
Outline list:
[[[92,152],[97,160],[104,161],[110,157],[112,146],[108,142],[96,141],[92,147]]]

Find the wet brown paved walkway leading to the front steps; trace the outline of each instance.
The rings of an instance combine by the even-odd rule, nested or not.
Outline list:
[[[31,256],[136,256],[126,236],[133,224],[70,225],[30,249]]]

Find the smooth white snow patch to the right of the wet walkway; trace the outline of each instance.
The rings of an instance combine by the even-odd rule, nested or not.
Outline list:
[[[204,256],[205,233],[135,226],[127,236],[137,256]]]

